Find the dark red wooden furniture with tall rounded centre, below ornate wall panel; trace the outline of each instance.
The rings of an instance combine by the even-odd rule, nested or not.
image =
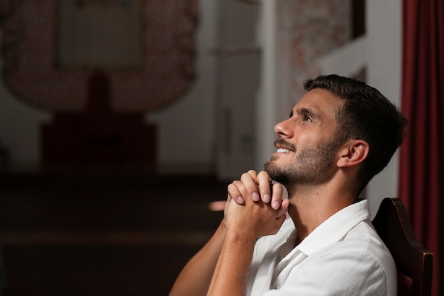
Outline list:
[[[55,112],[41,127],[44,166],[140,166],[155,169],[157,129],[145,113],[115,112],[106,75],[91,77],[84,112]]]

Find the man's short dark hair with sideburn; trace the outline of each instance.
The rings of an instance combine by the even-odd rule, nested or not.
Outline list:
[[[387,164],[405,136],[407,120],[377,89],[362,81],[338,75],[323,75],[304,81],[304,89],[325,89],[342,98],[337,110],[335,136],[341,142],[365,140],[370,146],[367,159],[357,173],[357,195]]]

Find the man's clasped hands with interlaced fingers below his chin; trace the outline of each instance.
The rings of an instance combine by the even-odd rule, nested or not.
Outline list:
[[[224,210],[227,232],[254,235],[255,238],[276,234],[289,205],[289,200],[282,196],[282,185],[272,183],[267,172],[243,173],[240,181],[228,185]]]

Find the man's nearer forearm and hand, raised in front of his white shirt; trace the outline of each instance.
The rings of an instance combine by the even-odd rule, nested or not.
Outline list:
[[[245,174],[243,175],[245,176]],[[269,203],[245,198],[249,193],[246,182],[235,181],[245,203],[228,203],[225,213],[226,237],[218,258],[208,295],[245,295],[250,264],[258,237],[276,234],[285,220]],[[282,196],[282,186],[273,185],[273,195]],[[282,202],[287,210],[288,200]]]

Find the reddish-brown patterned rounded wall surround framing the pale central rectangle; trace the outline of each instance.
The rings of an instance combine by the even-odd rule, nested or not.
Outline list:
[[[94,1],[114,1],[121,7],[140,4],[140,65],[61,67],[57,62],[58,1],[0,0],[3,76],[18,98],[49,111],[84,110],[89,81],[96,72],[109,80],[111,107],[115,111],[163,108],[189,89],[194,80],[196,0],[60,1],[74,1],[79,9]]]

